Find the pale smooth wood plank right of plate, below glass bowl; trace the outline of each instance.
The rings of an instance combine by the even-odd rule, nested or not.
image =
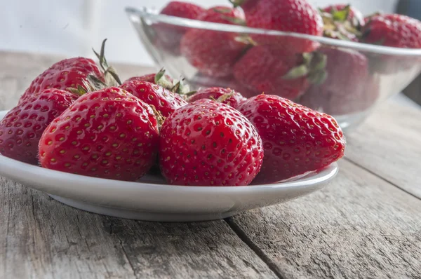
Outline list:
[[[421,198],[421,109],[382,104],[347,135],[349,160]]]

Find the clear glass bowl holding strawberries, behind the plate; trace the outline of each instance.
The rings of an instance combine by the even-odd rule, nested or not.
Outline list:
[[[126,13],[156,64],[194,89],[221,86],[245,97],[287,97],[333,115],[344,130],[359,125],[421,72],[421,49],[202,22],[147,8]],[[285,54],[303,45],[316,50]],[[305,67],[286,71],[292,59]]]

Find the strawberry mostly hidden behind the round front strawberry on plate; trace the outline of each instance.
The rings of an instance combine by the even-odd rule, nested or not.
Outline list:
[[[235,90],[230,88],[210,87],[197,90],[197,92],[189,97],[189,100],[187,101],[194,102],[201,99],[218,100],[219,97],[227,94],[232,94],[232,96],[224,100],[222,104],[228,104],[229,106],[234,107],[234,109],[238,107],[241,102],[247,100],[240,93],[235,92]]]

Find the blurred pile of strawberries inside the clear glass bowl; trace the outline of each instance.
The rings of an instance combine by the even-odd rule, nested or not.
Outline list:
[[[161,14],[226,25],[325,36],[397,48],[421,48],[421,22],[404,15],[363,17],[338,4],[316,9],[307,0],[230,0],[209,9],[171,1]],[[408,69],[413,61],[321,46],[295,36],[238,34],[153,26],[157,48],[181,55],[198,74],[199,86],[222,86],[245,97],[262,92],[286,97],[328,114],[368,109],[379,96],[378,74]]]

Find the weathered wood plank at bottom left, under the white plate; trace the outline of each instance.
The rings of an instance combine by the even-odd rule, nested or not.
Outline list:
[[[276,278],[221,220],[137,222],[0,177],[0,278]]]

